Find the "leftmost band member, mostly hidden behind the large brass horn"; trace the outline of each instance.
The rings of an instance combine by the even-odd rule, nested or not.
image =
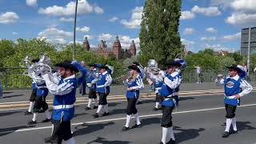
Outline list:
[[[36,63],[38,62],[39,59],[33,59],[31,62],[33,63]],[[32,93],[30,95],[30,107],[29,109],[25,112],[25,115],[30,115],[30,114],[33,114],[32,111],[33,111],[33,108],[34,108],[34,102],[35,102],[35,98],[37,96],[37,84],[35,82],[34,79],[32,79]]]

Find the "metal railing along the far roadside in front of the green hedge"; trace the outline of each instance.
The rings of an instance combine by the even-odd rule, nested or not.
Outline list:
[[[31,87],[31,78],[24,75],[26,68],[0,68],[0,82],[2,82],[2,88],[5,90],[10,89],[28,89]],[[115,68],[113,79],[114,85],[122,84],[124,78],[126,78],[127,69]],[[215,71],[215,70],[202,70],[200,74],[201,82],[214,82],[217,74],[223,74],[226,76],[227,71]],[[250,73],[250,78],[246,78],[250,81],[255,81],[256,74]],[[184,83],[194,83],[198,81],[198,75],[194,69],[185,69],[182,71],[182,78]]]

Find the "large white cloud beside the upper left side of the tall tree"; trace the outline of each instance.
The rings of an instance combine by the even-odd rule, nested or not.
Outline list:
[[[141,26],[142,22],[142,10],[143,6],[136,6],[134,10],[132,10],[131,18],[129,21],[122,19],[121,24],[126,26],[129,29],[138,29]]]

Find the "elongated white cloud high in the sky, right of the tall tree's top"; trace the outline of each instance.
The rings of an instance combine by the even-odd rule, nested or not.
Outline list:
[[[216,7],[216,6],[210,6],[210,7],[194,6],[191,9],[191,11],[196,14],[204,14],[209,17],[218,16],[218,15],[222,14],[222,12],[219,11],[218,7]]]

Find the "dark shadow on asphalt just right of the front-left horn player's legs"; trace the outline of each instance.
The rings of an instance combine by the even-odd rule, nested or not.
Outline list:
[[[114,122],[98,123],[98,124],[82,124],[75,126],[74,136],[90,134],[98,130],[103,130],[105,126],[114,125]]]

